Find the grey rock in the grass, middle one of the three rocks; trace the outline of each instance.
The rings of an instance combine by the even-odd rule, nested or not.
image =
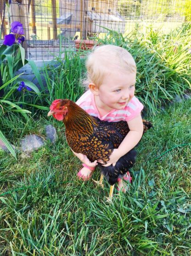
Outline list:
[[[21,148],[24,152],[32,152],[44,146],[44,144],[44,140],[35,134],[26,135],[25,138],[21,140]]]

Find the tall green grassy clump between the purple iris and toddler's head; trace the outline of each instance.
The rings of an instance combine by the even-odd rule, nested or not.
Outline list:
[[[84,59],[80,58],[79,53],[67,51],[64,60],[61,58],[56,58],[56,60],[56,67],[46,66],[44,69],[48,88],[45,100],[49,105],[55,99],[60,98],[77,101],[84,91],[80,85],[85,71]]]

